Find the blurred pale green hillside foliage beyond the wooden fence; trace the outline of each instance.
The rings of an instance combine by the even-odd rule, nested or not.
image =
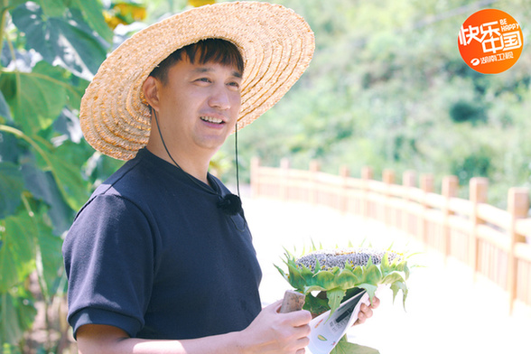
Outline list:
[[[293,89],[241,131],[242,162],[256,155],[278,166],[287,157],[325,172],[364,165],[431,172],[440,181],[489,178],[489,202],[502,207],[509,186],[531,185],[529,139],[531,65],[528,44],[517,64],[483,75],[462,61],[461,24],[479,3],[284,0],[312,26],[317,48]],[[531,22],[528,1],[492,6]],[[526,30],[528,36],[529,30]],[[232,144],[225,147],[226,154]],[[247,165],[241,169],[245,180]],[[234,171],[228,172],[228,178]],[[400,182],[400,181],[398,181]],[[466,194],[466,193],[465,193]]]

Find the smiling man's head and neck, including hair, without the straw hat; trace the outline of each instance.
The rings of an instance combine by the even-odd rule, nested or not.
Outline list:
[[[144,82],[144,97],[160,119],[147,149],[208,183],[210,159],[236,126],[243,70],[236,46],[220,39],[172,53]]]

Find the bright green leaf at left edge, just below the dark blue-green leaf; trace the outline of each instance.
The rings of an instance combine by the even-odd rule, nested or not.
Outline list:
[[[0,89],[13,108],[14,121],[23,131],[35,134],[51,126],[67,102],[64,70],[38,62],[32,72],[3,72]]]

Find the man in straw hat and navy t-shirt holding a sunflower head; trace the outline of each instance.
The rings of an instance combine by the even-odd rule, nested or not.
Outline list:
[[[100,152],[130,161],[65,239],[80,353],[304,352],[310,313],[261,309],[243,210],[208,166],[231,132],[282,98],[312,51],[291,10],[222,3],[144,29],[102,64],[81,126]]]

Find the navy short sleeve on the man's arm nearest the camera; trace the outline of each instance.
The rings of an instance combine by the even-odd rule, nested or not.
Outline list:
[[[118,195],[98,195],[79,212],[62,251],[74,336],[91,323],[134,337],[154,279],[154,237],[144,212]]]

